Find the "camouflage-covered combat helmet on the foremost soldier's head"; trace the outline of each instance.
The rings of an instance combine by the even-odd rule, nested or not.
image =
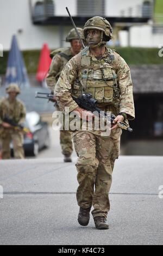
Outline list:
[[[101,42],[98,44],[98,46],[102,45],[102,44],[106,44],[106,42],[112,38],[112,27],[111,27],[109,21],[107,21],[103,17],[95,16],[95,17],[92,17],[91,19],[89,19],[85,23],[84,29],[83,29],[85,40],[87,38],[87,30],[88,29],[98,29],[98,30],[102,31]]]

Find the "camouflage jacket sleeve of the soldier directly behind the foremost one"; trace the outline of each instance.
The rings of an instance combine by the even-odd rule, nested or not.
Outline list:
[[[52,92],[54,91],[55,84],[58,81],[58,78],[61,74],[62,69],[67,64],[68,60],[70,60],[73,57],[71,53],[71,48],[66,48],[65,50],[64,49],[62,50],[63,51],[58,52],[53,57],[52,63],[46,78],[47,86]]]

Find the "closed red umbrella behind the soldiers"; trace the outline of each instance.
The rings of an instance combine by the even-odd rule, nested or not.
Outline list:
[[[46,78],[49,66],[51,65],[52,59],[49,57],[49,55],[49,47],[47,44],[44,44],[41,50],[39,66],[36,74],[36,80],[39,82],[42,82]]]

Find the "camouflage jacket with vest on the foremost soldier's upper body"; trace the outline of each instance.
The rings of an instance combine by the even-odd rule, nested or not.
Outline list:
[[[82,54],[88,60],[85,65],[85,59],[82,63]],[[116,97],[114,83],[117,83]],[[78,97],[82,93],[92,93],[99,102],[98,107],[105,107],[105,110],[114,114],[126,113],[129,120],[135,118],[129,66],[120,54],[110,49],[106,49],[103,58],[99,60],[92,55],[89,48],[74,56],[62,70],[54,92],[62,111],[69,107],[72,112],[78,107],[71,95]]]

